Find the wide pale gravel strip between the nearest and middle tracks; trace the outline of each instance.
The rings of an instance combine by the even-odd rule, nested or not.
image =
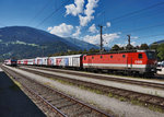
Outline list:
[[[10,68],[10,67],[8,67]],[[150,110],[149,108],[141,107],[138,105],[132,105],[128,102],[120,102],[119,100],[108,97],[101,94],[95,94],[93,92],[79,89],[77,86],[67,85],[59,83],[57,81],[33,74],[23,70],[19,70],[15,68],[10,68],[19,73],[22,73],[24,75],[30,77],[31,79],[35,79],[36,81],[48,84],[55,89],[58,89],[59,91],[66,92],[67,94],[71,94],[75,96],[77,98],[81,98],[82,101],[85,101],[87,103],[93,103],[97,105],[98,107],[110,110],[117,116],[125,116],[125,117],[164,117],[164,114]]]

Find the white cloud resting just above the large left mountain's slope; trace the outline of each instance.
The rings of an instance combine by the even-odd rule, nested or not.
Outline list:
[[[47,31],[49,33],[61,36],[61,37],[68,37],[71,35],[73,30],[72,25],[67,25],[66,23],[60,24],[59,26],[48,27]]]

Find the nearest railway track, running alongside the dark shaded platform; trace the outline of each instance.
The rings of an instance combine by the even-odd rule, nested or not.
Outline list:
[[[20,82],[27,92],[37,97],[50,110],[49,115],[51,117],[110,117],[109,114],[28,79],[9,68],[2,67],[2,69]]]

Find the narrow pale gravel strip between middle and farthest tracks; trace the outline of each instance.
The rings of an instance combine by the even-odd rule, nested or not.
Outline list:
[[[130,90],[130,91],[145,93],[145,94],[160,95],[160,96],[164,97],[164,91],[160,90],[160,89],[147,87],[147,86],[134,85],[134,84],[127,84],[127,83],[121,83],[121,82],[119,83],[119,82],[115,82],[115,81],[101,80],[101,77],[99,77],[99,80],[97,80],[97,79],[91,79],[91,78],[86,78],[86,77],[79,77],[79,75],[59,73],[59,72],[54,72],[54,71],[45,71],[45,70],[38,70],[38,69],[32,69],[32,68],[24,68],[24,69],[31,69],[31,70],[50,73],[50,74],[55,74],[55,75],[59,75],[59,77],[66,77],[69,79],[77,79],[77,80],[81,80],[81,81],[87,81],[87,82],[92,82],[92,83]]]

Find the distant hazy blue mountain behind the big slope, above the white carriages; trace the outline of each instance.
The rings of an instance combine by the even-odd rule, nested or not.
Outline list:
[[[95,48],[95,49],[99,48],[98,46],[95,46],[93,44],[90,44],[90,43],[86,43],[86,42],[83,42],[83,40],[80,40],[80,39],[77,39],[77,38],[67,37],[65,39],[68,40],[69,43],[71,43],[71,44],[73,44],[73,45],[79,46],[82,49],[89,50],[91,48]]]

